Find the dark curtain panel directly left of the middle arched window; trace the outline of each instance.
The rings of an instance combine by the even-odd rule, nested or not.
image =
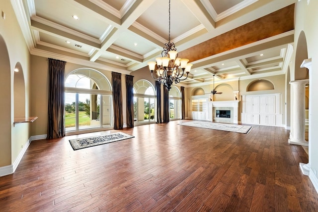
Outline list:
[[[126,75],[127,127],[134,127],[134,76]]]

